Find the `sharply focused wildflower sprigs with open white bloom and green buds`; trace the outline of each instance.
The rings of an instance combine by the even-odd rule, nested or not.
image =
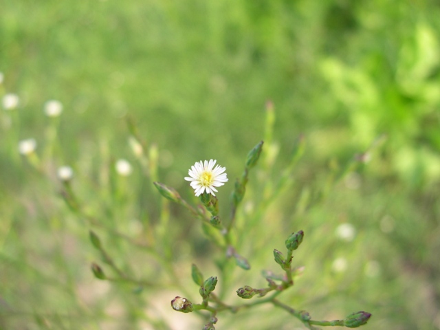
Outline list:
[[[231,256],[234,256],[236,258],[236,264],[244,270],[250,270],[250,264],[243,256],[240,256],[236,252],[236,249],[231,243],[230,233],[232,230],[234,230],[232,221],[234,220],[233,217],[236,207],[239,206],[239,203],[241,203],[245,195],[245,187],[248,183],[249,170],[257,164],[262,148],[263,141],[259,142],[259,144],[257,144],[252,151],[250,151],[245,162],[243,176],[241,179],[237,179],[236,181],[231,198],[233,215],[232,219],[230,219],[231,225],[229,226],[224,226],[221,224],[221,220],[219,219],[218,215],[219,200],[214,195],[214,191],[217,192],[214,187],[223,186],[228,179],[226,177],[226,173],[224,173],[225,168],[222,168],[218,165],[216,168],[214,168],[214,164],[216,163],[215,160],[210,159],[209,162],[196,162],[195,165],[189,170],[190,177],[185,177],[187,181],[191,181],[190,185],[195,190],[195,195],[200,197],[201,203],[211,214],[211,217],[206,216],[205,212],[195,212],[194,209],[188,206],[186,201],[181,199],[179,194],[177,194],[173,188],[168,188],[164,186],[164,184],[155,182],[156,188],[164,197],[186,206],[192,210],[192,212],[195,212],[197,217],[204,221],[204,223],[210,223],[212,227],[220,230],[224,237],[224,242],[223,244],[219,244],[219,246],[223,248],[225,257],[230,258]],[[282,303],[281,300],[278,300],[278,296],[294,285],[294,278],[303,272],[303,267],[294,267],[294,265],[292,265],[293,252],[299,248],[301,243],[303,243],[303,239],[303,230],[293,232],[287,236],[287,239],[285,240],[285,248],[287,250],[286,254],[283,254],[281,251],[274,250],[274,261],[279,267],[281,267],[281,274],[277,274],[276,272],[264,272],[263,274],[265,276],[265,280],[267,281],[267,287],[254,288],[250,285],[243,285],[242,287],[236,289],[236,295],[239,296],[239,298],[250,300],[251,298],[256,297],[253,299],[252,303],[236,303],[234,305],[225,303],[220,298],[222,295],[214,292],[217,283],[219,282],[218,277],[210,276],[209,278],[204,279],[205,277],[197,265],[192,264],[192,281],[199,286],[201,302],[192,303],[187,298],[176,296],[173,300],[171,300],[171,307],[175,309],[175,311],[180,311],[182,313],[190,313],[193,311],[202,310],[207,311],[208,322],[206,322],[206,324],[203,326],[203,330],[215,329],[214,325],[216,325],[219,321],[218,316],[224,311],[237,313],[243,309],[249,309],[253,306],[261,304],[270,304],[274,307],[284,309],[287,311],[287,313],[298,318],[300,322],[303,322],[303,325],[307,329],[320,329],[315,326],[343,326],[356,328],[365,325],[371,317],[371,314],[365,311],[358,311],[353,314],[349,314],[349,316],[341,320],[314,320],[311,318],[311,315],[308,311],[294,309],[285,303]]]

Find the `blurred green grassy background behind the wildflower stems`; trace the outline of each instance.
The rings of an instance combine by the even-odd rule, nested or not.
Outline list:
[[[74,168],[72,188],[103,223],[147,242],[169,233],[173,267],[196,300],[190,264],[215,276],[219,252],[182,208],[171,206],[168,226],[157,220],[163,201],[149,180],[197,202],[183,177],[217,159],[230,178],[219,191],[227,217],[272,100],[273,140],[239,211],[252,270],[234,271],[230,302],[242,285],[265,286],[272,250],[302,229],[295,261],[305,274],[285,303],[318,320],[366,310],[363,329],[440,329],[439,17],[434,0],[1,1],[0,95],[17,94],[19,105],[1,109],[0,328],[200,329],[197,316],[169,311],[176,289],[133,294],[93,277],[89,225],[63,203],[56,168]],[[60,118],[43,113],[51,99],[63,103]],[[148,157],[158,153],[156,177],[131,152],[127,118]],[[300,134],[292,183],[254,212]],[[371,160],[327,189],[380,136]],[[40,170],[17,149],[30,137]],[[115,173],[120,158],[133,165],[129,177]],[[166,273],[107,240],[138,276]],[[221,314],[217,329],[251,326],[302,329],[265,307]]]

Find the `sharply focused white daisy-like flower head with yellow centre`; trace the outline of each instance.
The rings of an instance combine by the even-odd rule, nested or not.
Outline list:
[[[223,173],[226,168],[220,165],[214,168],[216,162],[217,160],[212,159],[209,162],[206,160],[204,163],[201,161],[196,162],[188,170],[190,177],[185,177],[185,179],[186,181],[191,181],[190,185],[194,189],[196,196],[200,196],[205,191],[215,196],[214,191],[217,192],[217,189],[214,187],[223,186],[228,181],[226,173]]]

